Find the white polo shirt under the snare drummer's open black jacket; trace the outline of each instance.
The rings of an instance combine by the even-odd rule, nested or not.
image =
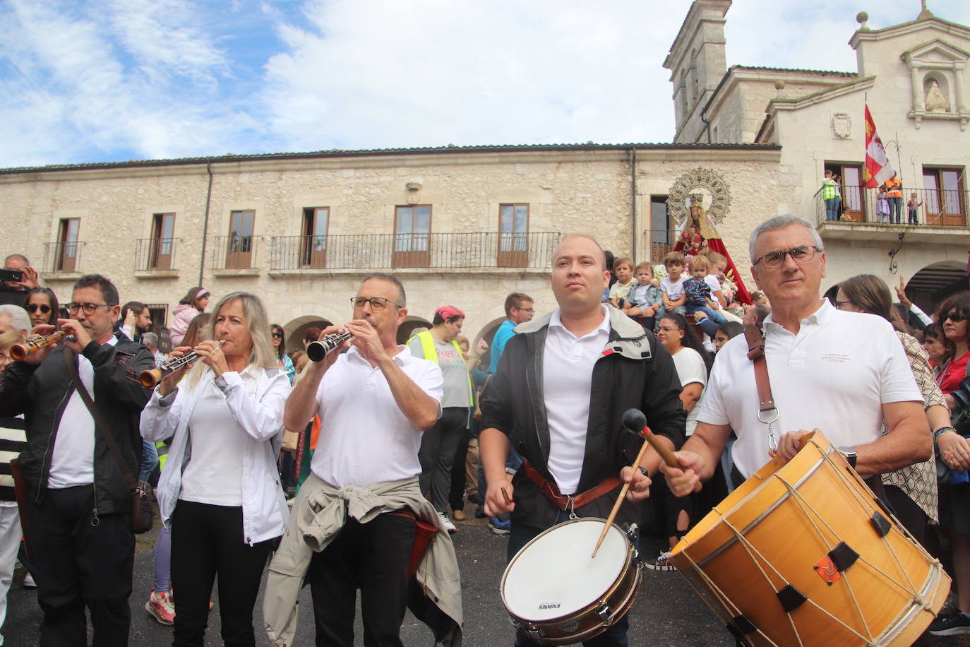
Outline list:
[[[549,320],[542,353],[542,399],[549,421],[549,460],[546,467],[559,491],[575,494],[586,456],[590,420],[593,365],[609,341],[609,316],[602,307],[598,328],[577,338],[563,326],[557,308]]]

